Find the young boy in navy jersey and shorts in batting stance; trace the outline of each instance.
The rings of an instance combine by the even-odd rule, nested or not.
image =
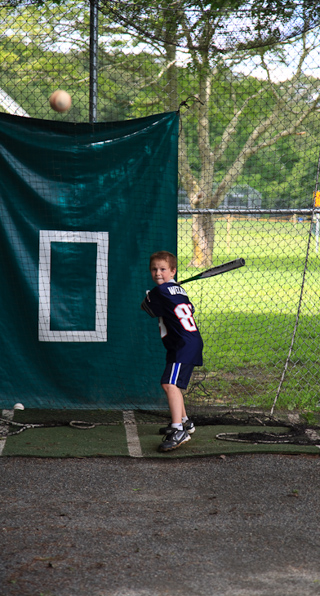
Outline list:
[[[177,258],[159,251],[150,257],[150,273],[156,286],[147,293],[141,308],[158,317],[163,345],[167,351],[166,367],[161,377],[171,424],[163,430],[159,451],[172,451],[190,440],[195,426],[188,419],[182,389],[188,387],[194,366],[202,365],[203,342],[194,320],[194,307],[186,291],[174,280]]]

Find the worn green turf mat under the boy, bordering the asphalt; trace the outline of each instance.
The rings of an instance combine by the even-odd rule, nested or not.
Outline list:
[[[286,433],[288,427],[261,427],[246,425],[197,426],[191,441],[170,453],[160,453],[162,437],[159,428],[168,422],[161,413],[152,422],[152,416],[135,413],[135,420],[143,457],[188,458],[196,456],[228,455],[243,453],[320,454],[313,445],[254,444],[217,439],[221,433]],[[70,422],[87,423],[88,428],[75,428]],[[22,425],[44,424],[44,428],[30,428],[16,433],[23,427],[10,424],[3,456],[29,457],[109,457],[129,456],[123,412],[105,410],[24,410],[15,411],[14,422]],[[54,426],[56,425],[56,426]],[[90,427],[91,426],[91,427]]]

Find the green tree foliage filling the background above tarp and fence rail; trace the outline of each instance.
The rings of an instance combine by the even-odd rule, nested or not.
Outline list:
[[[201,31],[208,14],[220,18],[235,10],[241,2],[211,2],[206,13],[202,3],[193,4],[197,21],[194,35],[201,38]],[[168,67],[169,56],[175,59],[175,46],[159,43],[160,37],[183,35],[181,18],[172,10],[169,0],[152,6],[148,12],[150,43],[136,31],[128,39],[127,30],[115,14],[116,3],[99,4],[98,50],[98,120],[122,120],[145,116],[150,113],[177,109],[187,99],[187,109],[181,110],[186,137],[188,164],[195,179],[204,175],[200,150],[199,106],[195,99],[208,72],[210,80],[208,98],[209,143],[214,152],[234,114],[241,112],[234,131],[223,153],[214,160],[214,185],[217,186],[228,168],[238,158],[262,118],[270,117],[277,108],[277,97],[283,96],[284,108],[278,121],[259,137],[263,143],[271,135],[283,131],[293,119],[308,109],[310,97],[318,91],[319,81],[301,73],[300,82],[271,85],[268,80],[244,76],[235,70],[244,55],[225,57],[214,54],[210,39],[208,49],[194,49],[189,61]],[[139,18],[150,7],[147,1],[127,3],[123,18]],[[186,9],[186,5],[181,3]],[[296,3],[258,2],[252,10],[259,10],[267,18],[268,10],[284,11],[284,18],[292,18]],[[132,12],[133,11],[133,12]],[[265,11],[265,12],[264,12]],[[279,13],[279,14],[280,14]],[[185,14],[185,13],[183,13]],[[117,17],[117,18],[116,18]],[[83,121],[89,113],[89,4],[66,0],[59,2],[14,2],[11,8],[0,9],[2,32],[0,35],[0,87],[9,94],[30,116],[53,120]],[[188,18],[191,18],[189,15]],[[178,19],[178,20],[177,20]],[[187,23],[187,22],[186,22]],[[214,35],[218,21],[212,22],[210,35]],[[187,23],[188,25],[188,23]],[[190,23],[189,23],[190,25]],[[1,28],[0,28],[1,31]],[[162,38],[161,37],[161,38]],[[156,39],[157,38],[157,39]],[[168,38],[168,40],[169,40]],[[182,38],[181,38],[182,39]],[[195,38],[194,38],[195,39]],[[171,54],[170,54],[171,52]],[[260,53],[259,53],[260,52]],[[267,49],[251,50],[246,60],[259,56],[270,60]],[[269,58],[267,58],[269,56]],[[283,47],[275,49],[273,58],[286,60]],[[272,57],[271,56],[271,57]],[[208,71],[208,62],[210,69]],[[174,73],[172,72],[174,69]],[[49,109],[48,99],[57,88],[72,96],[72,108],[66,114],[56,114]],[[292,92],[295,90],[294,93]],[[301,130],[301,129],[300,129]],[[304,136],[280,137],[277,143],[261,149],[249,157],[238,172],[238,185],[256,188],[263,197],[262,207],[310,206],[315,184],[319,138],[319,119],[310,114],[303,123]]]

